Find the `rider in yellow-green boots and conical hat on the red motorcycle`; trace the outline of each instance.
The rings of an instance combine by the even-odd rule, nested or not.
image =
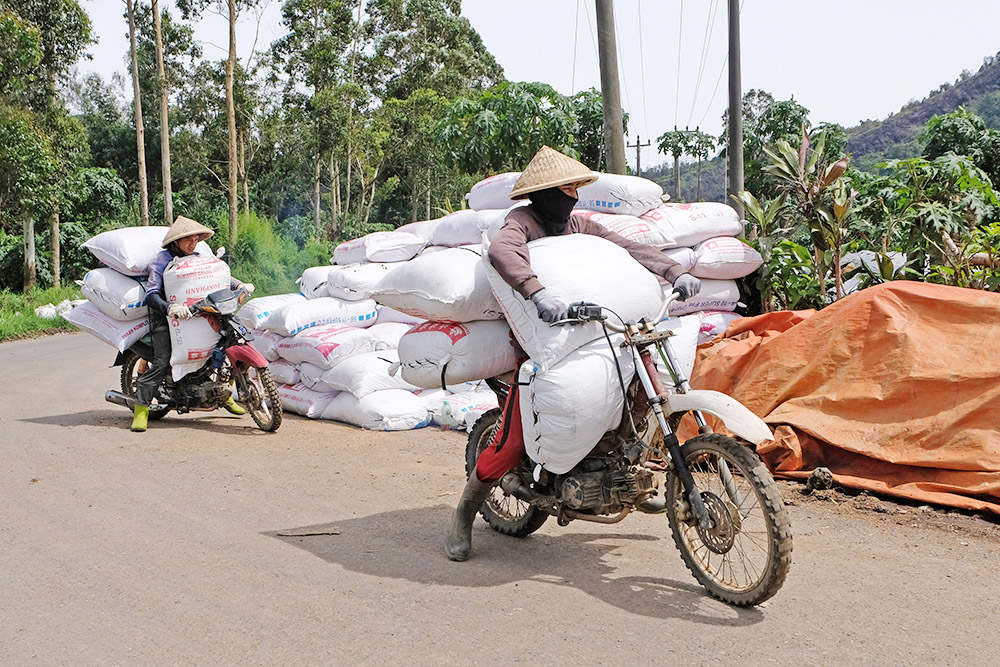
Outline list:
[[[149,404],[156,395],[160,382],[170,371],[170,329],[167,318],[186,320],[192,317],[191,309],[179,303],[168,303],[163,291],[163,270],[175,257],[197,254],[201,241],[215,232],[199,222],[178,216],[163,237],[161,250],[149,265],[149,280],[146,283],[146,305],[149,307],[149,329],[153,339],[153,361],[146,371],[139,375],[135,383],[135,409],[132,413],[132,430],[142,432],[149,422]],[[253,293],[253,283],[243,283],[232,279],[231,289],[243,286]],[[246,414],[230,396],[223,406],[234,415]]]

